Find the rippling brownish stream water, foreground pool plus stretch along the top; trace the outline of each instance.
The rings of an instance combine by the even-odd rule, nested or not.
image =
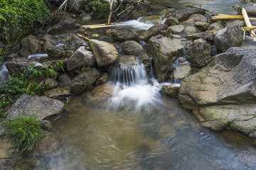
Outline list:
[[[156,1],[164,6],[200,6],[216,13],[233,14],[238,1]],[[136,24],[135,24],[136,25]],[[139,28],[138,28],[139,29]],[[139,62],[138,62],[139,64]],[[177,98],[161,94],[161,84],[139,64],[132,84],[112,79],[119,94],[100,103],[88,103],[85,94],[65,103],[50,130],[54,142],[31,154],[35,169],[256,169],[256,149],[250,140],[232,132],[203,128]],[[49,141],[48,141],[49,142]]]

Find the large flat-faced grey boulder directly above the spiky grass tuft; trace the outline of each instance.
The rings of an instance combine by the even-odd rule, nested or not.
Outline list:
[[[64,103],[46,96],[21,95],[11,107],[7,118],[19,115],[33,115],[38,120],[48,118],[63,111]]]

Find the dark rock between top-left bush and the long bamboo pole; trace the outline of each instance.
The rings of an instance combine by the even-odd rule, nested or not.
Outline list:
[[[76,29],[75,21],[72,18],[68,18],[60,21],[55,26],[50,28],[48,34],[53,35],[53,34],[63,33],[67,30],[74,30],[74,29]]]

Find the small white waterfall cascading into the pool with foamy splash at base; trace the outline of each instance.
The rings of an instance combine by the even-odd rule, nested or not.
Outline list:
[[[137,62],[137,66],[131,68],[114,67],[110,69],[110,81],[115,88],[109,108],[140,111],[149,104],[156,106],[160,103],[159,84],[153,77],[148,77],[144,64]]]

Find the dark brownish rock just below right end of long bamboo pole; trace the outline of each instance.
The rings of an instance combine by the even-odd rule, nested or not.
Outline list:
[[[140,42],[139,36],[131,28],[114,28],[112,37],[117,41],[134,40]]]

